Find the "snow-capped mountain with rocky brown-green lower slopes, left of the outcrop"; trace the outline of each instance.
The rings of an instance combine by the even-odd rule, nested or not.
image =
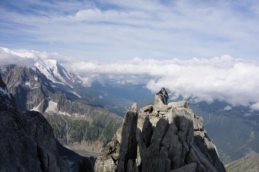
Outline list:
[[[55,60],[42,60],[33,53],[9,53],[35,59],[30,67],[1,68],[3,81],[18,108],[24,112],[41,112],[51,124],[55,138],[64,146],[100,152],[121,125],[122,118],[93,99],[74,92],[72,85],[78,82],[76,74],[67,72]]]

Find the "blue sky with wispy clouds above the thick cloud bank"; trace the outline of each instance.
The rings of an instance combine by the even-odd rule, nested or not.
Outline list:
[[[0,46],[75,60],[258,60],[258,1],[2,0]]]

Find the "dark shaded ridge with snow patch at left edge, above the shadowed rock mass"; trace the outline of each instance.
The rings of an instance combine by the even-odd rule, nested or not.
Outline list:
[[[0,74],[0,111],[5,111],[16,106],[17,104],[13,94],[8,92],[7,86],[3,82]]]

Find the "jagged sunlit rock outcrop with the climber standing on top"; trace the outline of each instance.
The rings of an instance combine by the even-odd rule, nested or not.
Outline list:
[[[132,140],[132,144],[124,140]],[[125,153],[129,150],[130,154]],[[226,171],[208,138],[202,117],[193,114],[189,102],[164,105],[158,96],[154,104],[145,104],[139,112],[127,111],[123,125],[98,155],[94,169],[96,172]]]

